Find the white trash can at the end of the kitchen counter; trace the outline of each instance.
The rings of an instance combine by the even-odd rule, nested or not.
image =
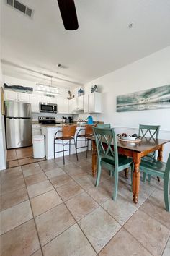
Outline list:
[[[45,158],[44,135],[34,135],[32,142],[33,142],[33,157],[34,158]]]

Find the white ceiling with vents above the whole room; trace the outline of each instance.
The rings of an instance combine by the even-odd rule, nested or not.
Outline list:
[[[21,1],[34,9],[32,19],[1,0],[2,72],[9,76],[42,82],[40,72],[75,88],[170,45],[169,0],[75,0],[75,31],[64,29],[57,0]]]

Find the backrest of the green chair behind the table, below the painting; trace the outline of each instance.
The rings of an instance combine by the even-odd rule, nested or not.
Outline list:
[[[142,137],[151,137],[158,139],[160,125],[139,125],[138,136]]]

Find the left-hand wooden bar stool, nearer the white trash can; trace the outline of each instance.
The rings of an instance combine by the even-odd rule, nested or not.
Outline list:
[[[70,155],[71,154],[71,145],[75,145],[76,158],[77,158],[77,161],[78,161],[76,142],[75,142],[76,127],[77,127],[76,125],[63,126],[62,131],[61,130],[58,131],[58,132],[62,132],[62,136],[58,136],[58,137],[57,137],[58,132],[55,132],[55,136],[54,136],[54,158],[55,158],[56,153],[63,152],[63,164],[65,164],[64,152],[69,151],[69,155]],[[57,140],[62,140],[62,143],[56,143]],[[71,144],[71,140],[73,140],[73,144]],[[64,141],[65,141],[65,143],[64,143]],[[63,145],[63,150],[55,151],[55,145]],[[67,150],[64,150],[64,147],[66,145],[69,145],[69,148]]]

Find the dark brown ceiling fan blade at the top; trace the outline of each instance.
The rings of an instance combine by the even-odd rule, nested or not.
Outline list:
[[[76,7],[73,0],[58,0],[63,25],[66,30],[77,30],[79,27]]]

